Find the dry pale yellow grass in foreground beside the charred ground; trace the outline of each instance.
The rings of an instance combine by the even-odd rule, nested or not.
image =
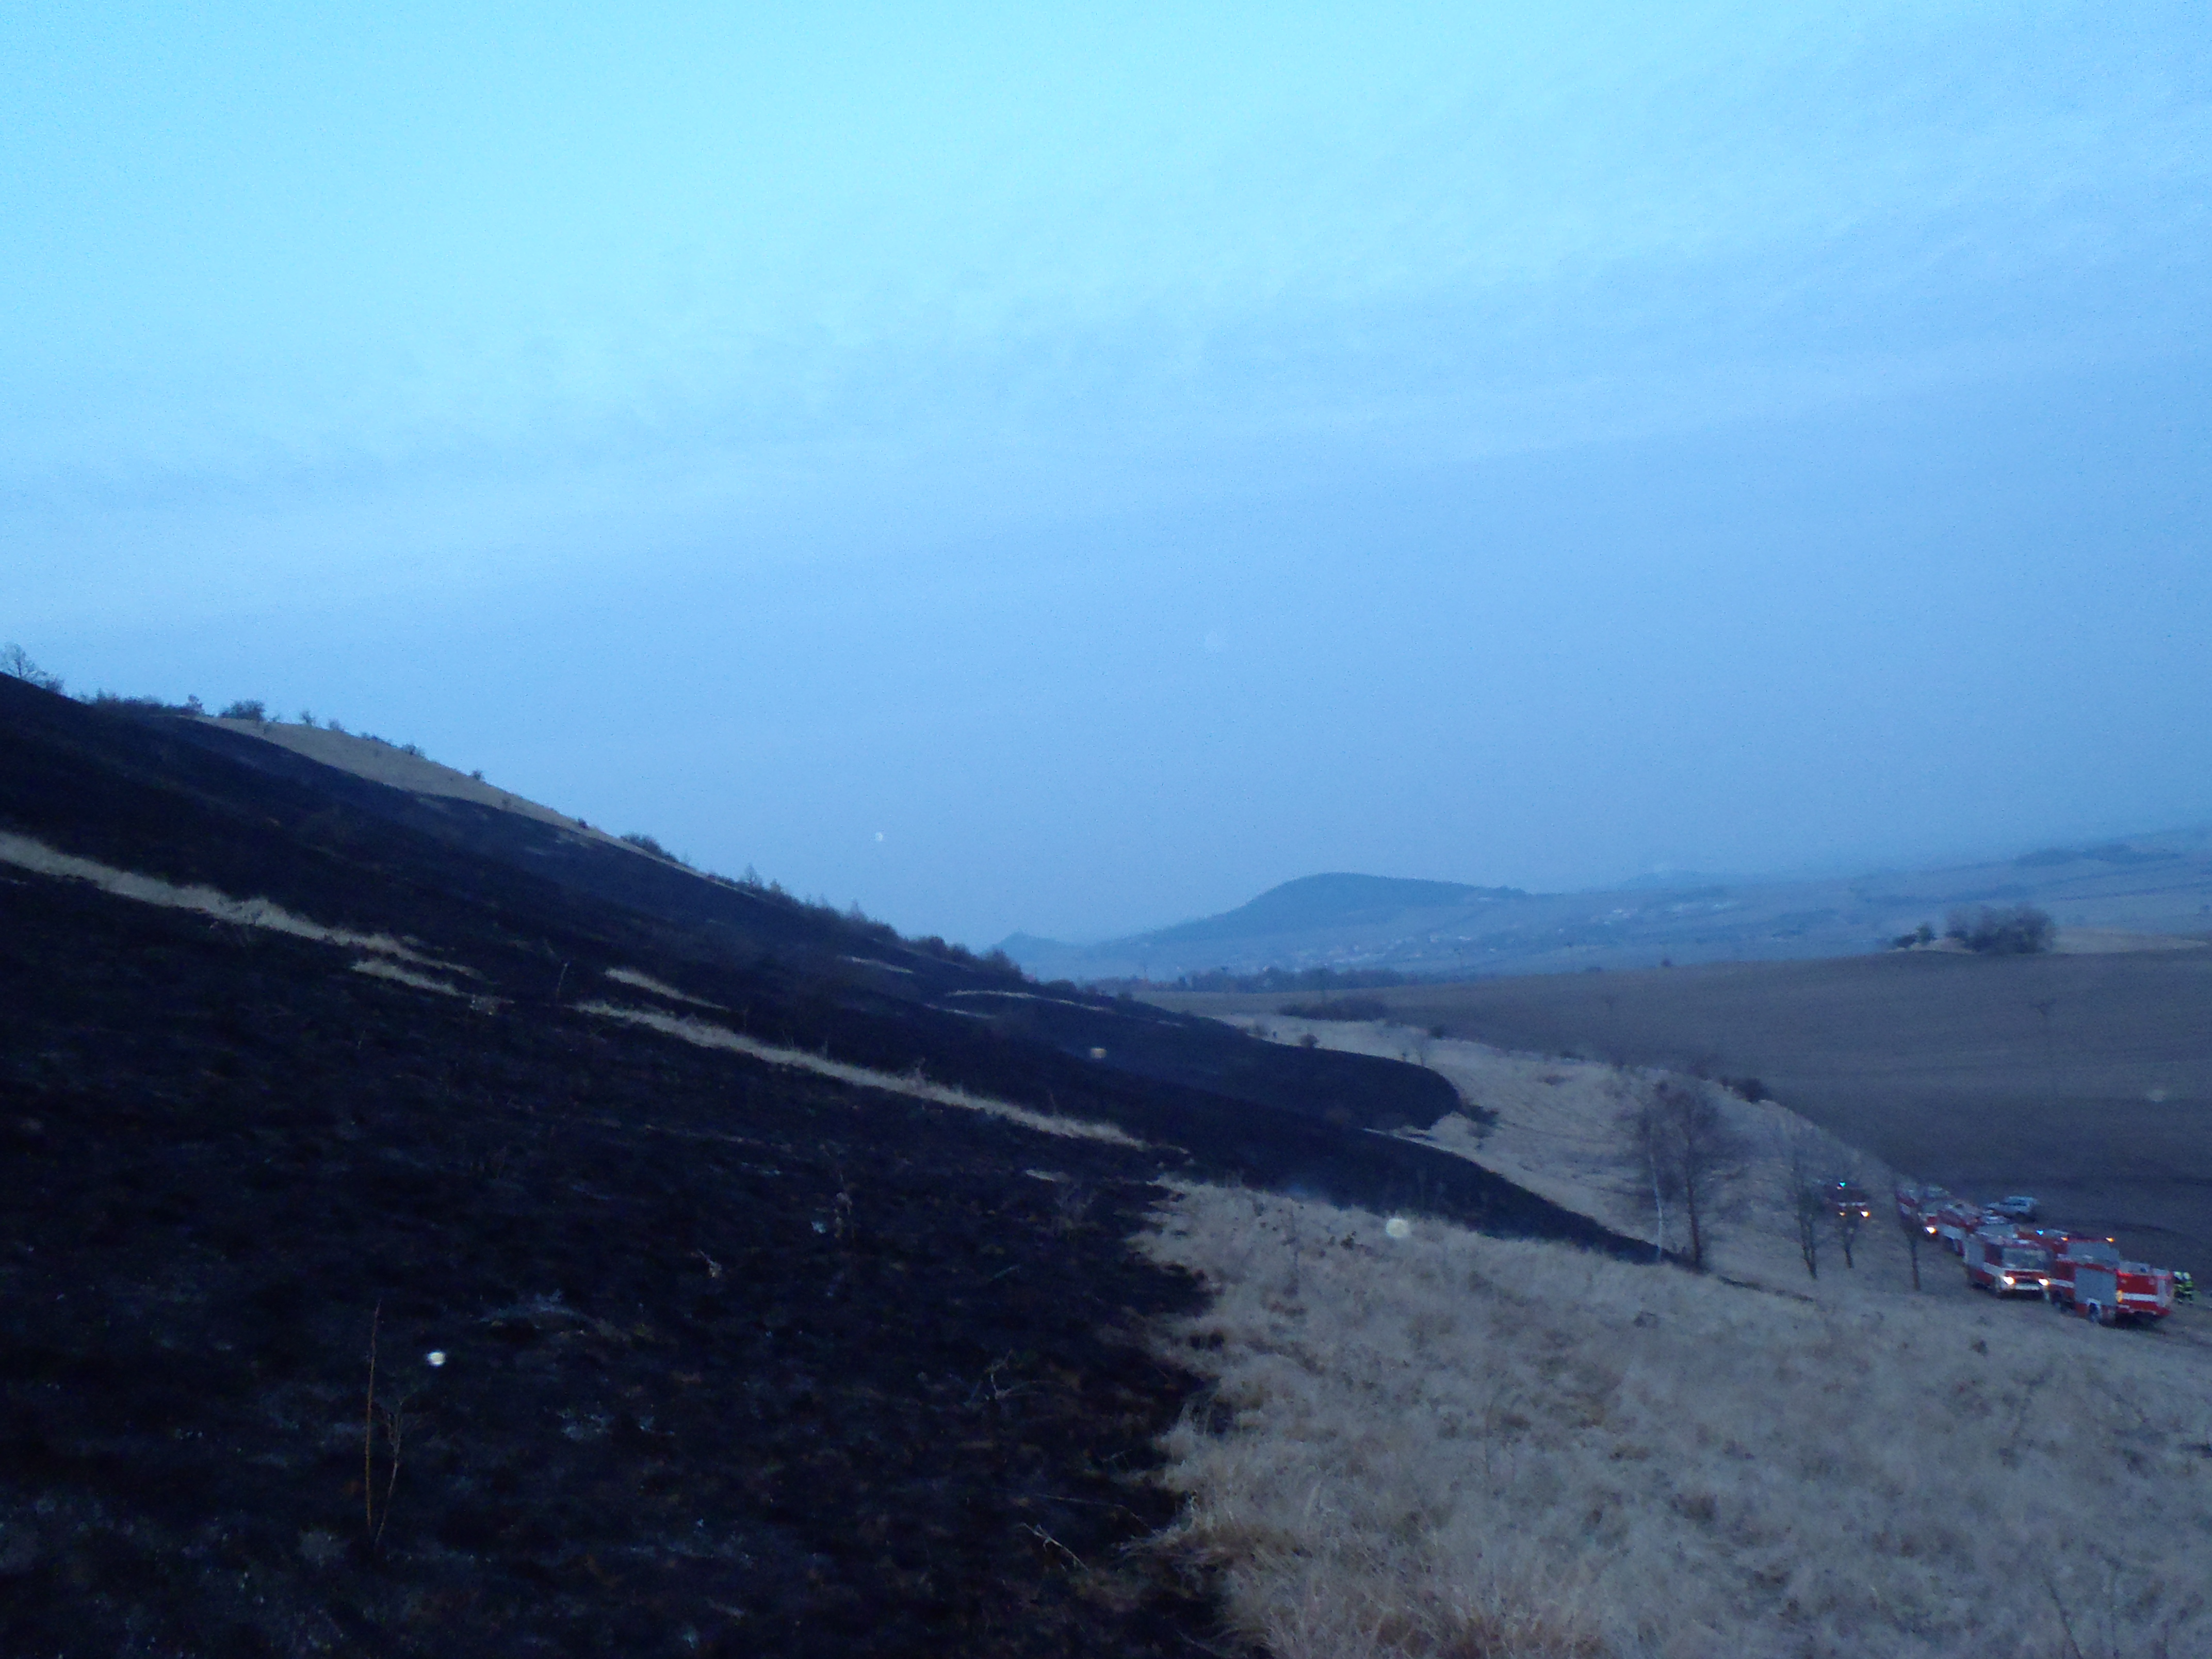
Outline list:
[[[2194,1312],[1807,1301],[1221,1188],[1144,1248],[1212,1287],[1166,1340],[1230,1416],[1170,1436],[1172,1542],[1279,1659],[2212,1652]]]

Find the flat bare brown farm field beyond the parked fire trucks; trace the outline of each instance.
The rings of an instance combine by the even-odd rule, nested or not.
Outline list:
[[[1891,1168],[2212,1270],[2212,951],[1909,951],[1360,991],[1413,1031],[1759,1077]],[[1252,1020],[1276,995],[1159,993]]]

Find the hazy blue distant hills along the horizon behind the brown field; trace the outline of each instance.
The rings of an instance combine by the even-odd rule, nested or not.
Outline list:
[[[1221,916],[1102,945],[1015,933],[1004,949],[1044,980],[1170,982],[1225,969],[1334,969],[1447,978],[1858,956],[1955,905],[2039,905],[2062,949],[2212,933],[2212,830],[2039,847],[1938,869],[1825,878],[1639,876],[1579,894],[1449,880],[1303,876]]]

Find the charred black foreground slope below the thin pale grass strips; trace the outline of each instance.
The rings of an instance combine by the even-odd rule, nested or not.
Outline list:
[[[1130,1548],[1190,1394],[1141,1327],[1192,1287],[1124,1248],[1148,1161],[0,891],[0,1650],[1212,1630]]]

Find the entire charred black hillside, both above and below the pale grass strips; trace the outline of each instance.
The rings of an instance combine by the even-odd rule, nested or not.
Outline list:
[[[1203,1586],[1144,1548],[1192,1389],[1144,1338],[1194,1290],[1126,1248],[1161,1175],[1617,1245],[1367,1133],[1433,1117],[1422,1073],[1321,1086],[958,964],[889,995],[836,938],[686,922],[482,845],[507,825],[0,690],[0,827],[411,936],[476,993],[0,865],[4,1652],[1208,1650]],[[573,1006],[608,967],[1148,1146]],[[1135,1053],[1093,1062],[1099,1031]]]

